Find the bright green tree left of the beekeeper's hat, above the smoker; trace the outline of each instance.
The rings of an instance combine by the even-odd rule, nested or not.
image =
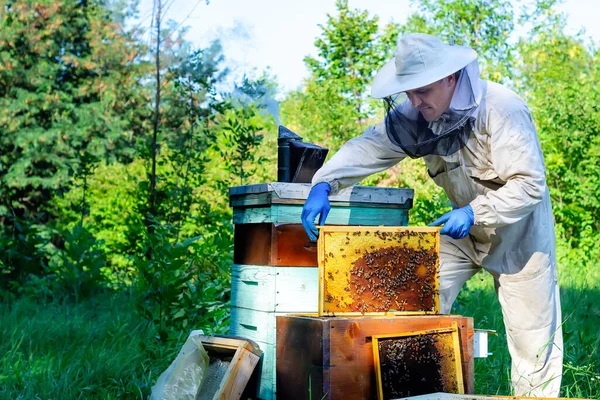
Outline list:
[[[379,18],[336,2],[315,40],[317,57],[304,59],[311,77],[282,105],[285,124],[307,140],[338,149],[360,134],[377,113],[368,94],[374,73],[387,61],[397,25],[379,30]]]

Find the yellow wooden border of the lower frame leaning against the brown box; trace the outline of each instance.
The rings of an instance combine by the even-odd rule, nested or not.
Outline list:
[[[379,358],[379,340],[380,339],[392,339],[392,338],[401,338],[408,336],[419,336],[419,335],[432,335],[439,333],[451,333],[452,334],[452,343],[454,349],[454,364],[456,368],[456,383],[458,388],[458,394],[465,393],[465,387],[463,382],[462,375],[462,359],[460,356],[460,340],[458,337],[458,325],[456,322],[452,323],[451,328],[441,328],[441,329],[430,329],[423,331],[412,331],[412,332],[402,332],[397,334],[389,334],[389,335],[374,335],[373,336],[373,365],[375,366],[375,376],[377,379],[377,399],[383,399],[383,381],[381,378],[381,360]]]

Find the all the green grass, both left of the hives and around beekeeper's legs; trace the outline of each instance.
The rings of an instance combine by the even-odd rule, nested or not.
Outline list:
[[[565,368],[562,395],[600,398],[600,267],[560,271]],[[19,299],[0,305],[0,399],[142,399],[188,332],[159,345],[124,294],[79,305]],[[495,329],[492,356],[475,360],[475,390],[510,394],[510,357],[492,278],[480,273],[453,312]]]

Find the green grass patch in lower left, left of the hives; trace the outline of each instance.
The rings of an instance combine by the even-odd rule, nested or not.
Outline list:
[[[0,398],[144,398],[181,345],[159,346],[154,336],[125,295],[2,304]]]

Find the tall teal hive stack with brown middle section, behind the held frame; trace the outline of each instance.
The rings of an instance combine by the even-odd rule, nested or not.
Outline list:
[[[311,185],[269,182],[229,189],[234,223],[230,333],[264,352],[257,396],[276,398],[275,317],[318,311],[316,244],[302,227]],[[352,186],[330,196],[327,225],[406,226],[412,189]]]

